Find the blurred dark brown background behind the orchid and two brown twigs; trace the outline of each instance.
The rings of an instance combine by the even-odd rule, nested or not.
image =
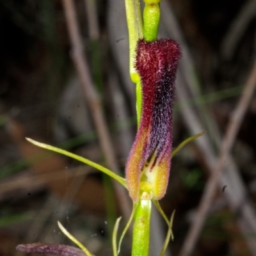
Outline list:
[[[124,0],[74,1],[84,61],[113,144],[107,155],[90,93],[77,75],[63,2],[0,0],[0,255],[24,255],[15,251],[20,243],[71,244],[57,220],[95,255],[111,255],[113,223],[127,213],[124,205],[128,214],[131,209],[104,175],[25,140],[58,145],[109,168],[112,163],[124,175],[136,134]],[[159,37],[183,49],[173,147],[207,131],[173,158],[161,200],[167,216],[176,209],[166,255],[179,255],[253,68],[256,1],[163,0],[161,10]],[[255,148],[254,93],[192,255],[256,255]],[[166,225],[156,212],[152,227],[151,255],[159,255]],[[130,246],[127,234],[122,255],[130,255]]]

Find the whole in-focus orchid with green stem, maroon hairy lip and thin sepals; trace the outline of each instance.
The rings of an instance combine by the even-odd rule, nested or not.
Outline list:
[[[77,156],[61,148],[27,139],[38,147],[58,152],[106,173],[128,189],[133,201],[131,217],[122,232],[117,246],[116,237],[120,218],[113,231],[113,255],[120,252],[120,245],[132,220],[132,256],[148,256],[150,241],[151,203],[154,202],[168,225],[168,233],[160,256],[164,255],[172,234],[172,221],[161,209],[158,200],[163,198],[168,185],[171,158],[189,141],[202,136],[196,134],[172,152],[172,116],[177,65],[181,56],[179,45],[170,39],[157,40],[161,0],[144,0],[143,19],[140,0],[125,0],[129,30],[130,75],[136,84],[136,109],[138,132],[125,167],[125,179],[100,164]],[[51,253],[61,256],[93,256],[86,247],[58,223],[61,231],[81,250],[63,244],[21,244],[22,252]]]

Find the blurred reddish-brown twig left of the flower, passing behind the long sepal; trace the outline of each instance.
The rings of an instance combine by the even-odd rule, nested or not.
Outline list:
[[[63,0],[63,6],[65,10],[65,17],[67,20],[68,33],[70,35],[70,40],[72,44],[72,58],[77,68],[79,79],[81,80],[81,86],[83,87],[84,96],[86,97],[86,100],[88,101],[88,104],[92,111],[93,121],[95,123],[97,133],[99,134],[100,146],[102,148],[104,156],[106,157],[106,162],[109,168],[113,170],[113,172],[118,173],[118,164],[115,160],[114,148],[111,143],[104,115],[102,113],[100,100],[99,97],[97,97],[97,93],[95,92],[95,89],[93,87],[88,64],[84,56],[83,41],[81,38],[81,34],[79,33],[74,3],[72,0]],[[125,190],[119,184],[114,183],[114,186],[118,195],[118,200],[122,209],[122,213],[124,217],[128,219],[130,214],[130,203],[127,193],[125,193]]]

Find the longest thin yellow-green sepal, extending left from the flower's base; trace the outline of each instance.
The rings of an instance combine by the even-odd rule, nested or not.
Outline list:
[[[31,140],[29,138],[26,138],[26,140],[28,140],[30,143],[32,143],[32,144],[34,144],[38,147],[45,148],[45,149],[51,150],[53,152],[57,152],[59,154],[68,156],[68,157],[72,157],[72,158],[76,159],[77,161],[80,161],[84,164],[88,164],[88,165],[92,166],[93,168],[99,170],[100,172],[106,173],[107,175],[109,175],[109,177],[115,179],[120,184],[122,184],[125,188],[127,188],[124,178],[120,177],[116,173],[112,172],[111,170],[105,168],[104,166],[102,166],[100,164],[94,163],[93,161],[90,161],[90,160],[88,160],[84,157],[81,157],[81,156],[77,156],[76,154],[70,153],[70,152],[68,152],[66,150],[63,150],[61,148],[56,148],[56,147],[53,147],[51,145],[47,145],[45,143],[41,143],[41,142],[38,142],[38,141],[35,141],[35,140]]]

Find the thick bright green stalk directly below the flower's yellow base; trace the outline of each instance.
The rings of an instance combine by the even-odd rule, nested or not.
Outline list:
[[[140,200],[134,214],[132,256],[148,256],[151,200]]]

